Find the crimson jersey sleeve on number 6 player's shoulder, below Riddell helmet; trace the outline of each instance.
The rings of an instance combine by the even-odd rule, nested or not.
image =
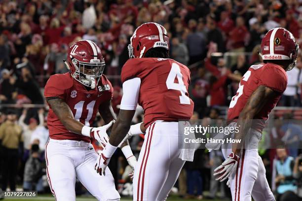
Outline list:
[[[283,69],[268,66],[260,74],[260,85],[264,85],[276,92],[283,93],[287,86],[287,75]]]

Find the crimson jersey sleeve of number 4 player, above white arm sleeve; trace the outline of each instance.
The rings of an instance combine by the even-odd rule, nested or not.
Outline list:
[[[143,64],[145,62],[145,64]],[[121,71],[121,82],[124,83],[126,80],[139,77],[142,78],[143,74],[146,73],[146,61],[142,58],[129,59]]]

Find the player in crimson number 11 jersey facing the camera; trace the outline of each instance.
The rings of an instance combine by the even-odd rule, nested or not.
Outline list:
[[[106,176],[94,170],[96,151],[102,150],[95,142],[107,143],[106,130],[115,119],[111,106],[113,87],[103,75],[105,62],[101,50],[90,40],[76,41],[68,50],[65,64],[70,72],[52,75],[44,91],[50,107],[50,139],[45,148],[50,189],[57,201],[75,201],[77,177],[97,200],[119,201],[110,170]],[[107,125],[92,128],[97,111]],[[122,151],[134,167],[136,159],[127,143]]]

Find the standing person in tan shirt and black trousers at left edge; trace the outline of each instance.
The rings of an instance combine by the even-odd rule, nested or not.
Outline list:
[[[7,183],[11,191],[16,190],[16,175],[19,151],[23,152],[23,135],[21,127],[16,123],[17,115],[13,110],[7,112],[7,120],[0,126],[0,144],[2,162],[2,190],[6,191]],[[22,155],[22,154],[21,154]]]

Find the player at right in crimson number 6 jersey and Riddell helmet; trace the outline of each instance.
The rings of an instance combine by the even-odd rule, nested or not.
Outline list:
[[[236,95],[232,98],[227,119],[239,132],[240,143],[231,148],[223,145],[226,161],[215,169],[217,180],[228,182],[233,201],[274,201],[265,168],[258,155],[268,114],[279,101],[287,86],[286,70],[295,64],[299,45],[292,33],[283,28],[268,31],[261,43],[264,64],[253,65],[243,75]]]

